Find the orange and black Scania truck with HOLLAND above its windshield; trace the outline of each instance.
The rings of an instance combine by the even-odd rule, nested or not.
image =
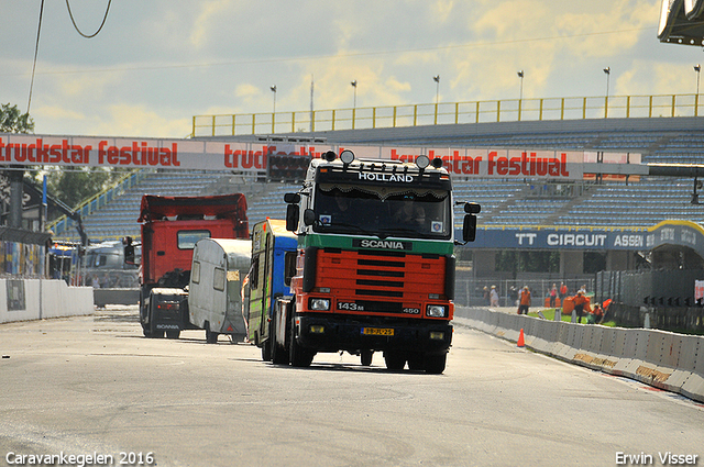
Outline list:
[[[298,238],[296,265],[290,294],[276,298],[258,323],[255,343],[271,346],[263,356],[305,367],[317,353],[344,351],[371,365],[383,352],[391,370],[407,364],[444,371],[455,240],[452,182],[442,160],[361,160],[350,151],[328,152],[310,163],[300,191],[285,201],[286,229]],[[460,204],[466,243],[481,207]]]

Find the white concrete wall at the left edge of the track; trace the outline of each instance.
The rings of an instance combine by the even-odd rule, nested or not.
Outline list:
[[[91,287],[61,279],[0,279],[0,323],[76,316],[94,312]]]

